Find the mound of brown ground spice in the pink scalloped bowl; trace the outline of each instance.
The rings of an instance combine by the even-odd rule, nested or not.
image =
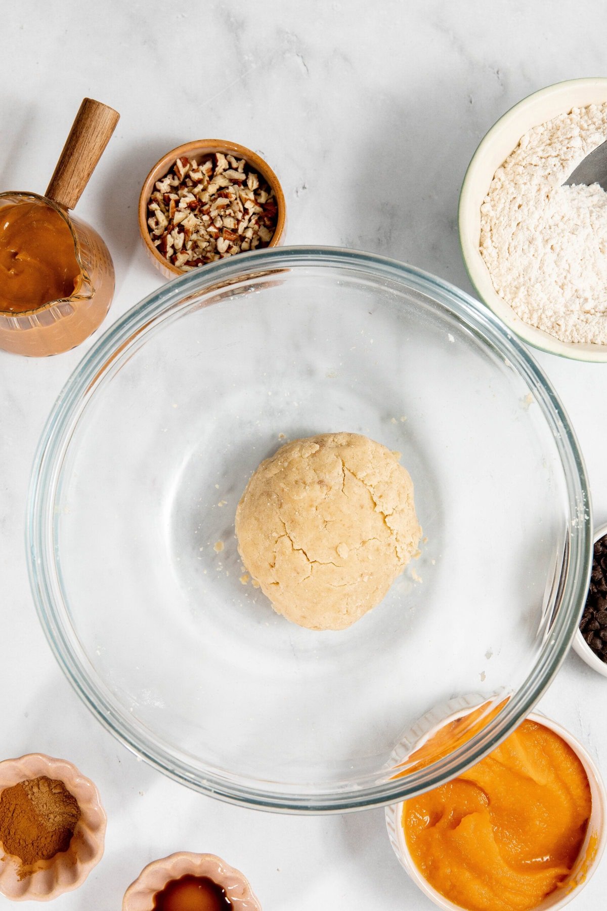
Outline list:
[[[66,851],[79,818],[76,797],[46,775],[0,793],[0,842],[6,854],[24,865]]]

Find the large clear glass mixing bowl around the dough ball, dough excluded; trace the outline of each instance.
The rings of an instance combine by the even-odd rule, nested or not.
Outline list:
[[[341,430],[400,451],[425,537],[379,607],[312,632],[243,584],[234,513],[283,440]],[[28,554],[56,658],[120,741],[198,791],[319,812],[434,787],[521,721],[569,648],[592,534],[567,417],[489,310],[291,248],[172,281],[99,339],[46,425]],[[395,779],[415,720],[470,693],[495,717]]]

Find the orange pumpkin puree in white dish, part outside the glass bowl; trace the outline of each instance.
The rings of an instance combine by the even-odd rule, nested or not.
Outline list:
[[[529,911],[571,872],[591,814],[581,761],[558,734],[526,721],[454,781],[406,801],[415,865],[470,911]]]

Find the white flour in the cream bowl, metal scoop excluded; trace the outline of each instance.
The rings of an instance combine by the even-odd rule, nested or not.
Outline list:
[[[607,104],[534,127],[491,180],[481,254],[521,320],[562,342],[607,343],[607,193],[563,187],[607,139]]]

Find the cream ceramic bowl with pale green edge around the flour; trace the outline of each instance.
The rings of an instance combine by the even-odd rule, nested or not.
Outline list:
[[[572,79],[542,88],[524,98],[497,121],[474,153],[461,187],[459,210],[461,253],[470,281],[481,301],[506,323],[512,333],[534,347],[561,357],[602,363],[607,363],[607,343],[563,342],[554,334],[523,322],[510,303],[495,291],[490,271],[481,255],[480,241],[481,205],[496,170],[517,148],[521,138],[531,128],[568,114],[574,107],[605,102],[607,78]],[[575,259],[579,261],[580,258],[576,256]],[[515,266],[513,263],[512,268]]]

